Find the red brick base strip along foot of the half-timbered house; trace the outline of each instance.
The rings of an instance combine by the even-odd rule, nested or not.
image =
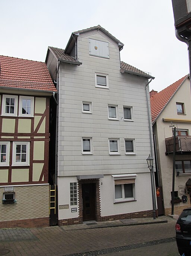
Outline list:
[[[43,228],[48,227],[49,217],[0,222],[0,228]]]

